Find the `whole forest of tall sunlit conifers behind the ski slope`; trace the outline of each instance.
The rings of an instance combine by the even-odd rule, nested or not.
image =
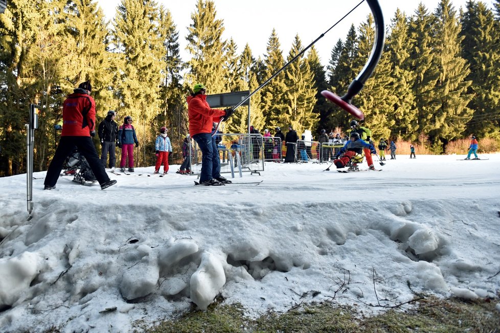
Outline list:
[[[186,36],[166,7],[121,0],[107,22],[92,0],[9,0],[0,14],[0,176],[26,172],[26,128],[31,103],[42,106],[35,131],[34,171],[47,170],[59,133],[62,102],[80,82],[92,82],[97,123],[108,110],[120,125],[132,116],[141,146],[136,165],[152,165],[154,138],[167,126],[174,159],[188,132],[186,96],[194,83],[209,93],[253,91],[305,47],[297,35],[281,45],[269,32],[266,54],[222,39],[224,19],[213,1],[198,0]],[[500,0],[493,8],[469,1],[454,8],[419,5],[414,13],[385,17],[385,50],[373,76],[353,100],[373,137],[423,142],[443,153],[449,141],[476,135],[500,141]],[[180,27],[184,28],[185,27]],[[190,59],[180,58],[186,38]],[[347,130],[351,117],[320,94],[342,95],[370,55],[371,16],[351,26],[320,62],[314,46],[251,99],[258,129],[293,126]],[[225,132],[247,132],[247,107]],[[100,149],[98,139],[96,147]]]

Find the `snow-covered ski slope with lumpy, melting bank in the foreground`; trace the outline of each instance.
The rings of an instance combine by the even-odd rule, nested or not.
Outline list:
[[[498,303],[500,154],[463,157],[234,179],[258,186],[193,186],[171,165],[43,191],[39,172],[30,221],[26,175],[0,178],[0,330],[129,331],[218,292],[249,315],[326,299],[371,313],[421,291]]]

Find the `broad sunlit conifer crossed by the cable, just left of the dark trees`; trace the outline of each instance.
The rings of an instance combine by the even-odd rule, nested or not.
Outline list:
[[[291,61],[303,50],[299,35],[295,36],[287,61]],[[301,55],[285,69],[285,104],[287,112],[280,114],[278,121],[271,126],[288,123],[298,132],[311,130],[316,126],[317,114],[314,114],[316,89],[314,89],[314,74],[307,59]]]

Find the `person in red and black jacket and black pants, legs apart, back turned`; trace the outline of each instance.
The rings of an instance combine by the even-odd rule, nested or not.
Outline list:
[[[104,166],[97,155],[96,147],[90,136],[96,135],[96,102],[90,97],[92,86],[89,81],[80,83],[72,94],[69,94],[62,107],[62,132],[56,153],[45,176],[43,189],[56,187],[57,179],[66,157],[78,148],[94,172],[101,189],[116,184],[110,180]]]

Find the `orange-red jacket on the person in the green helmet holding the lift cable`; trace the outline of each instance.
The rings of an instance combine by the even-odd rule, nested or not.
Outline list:
[[[207,102],[207,96],[197,94],[188,96],[188,116],[189,116],[189,135],[199,133],[212,133],[213,123],[218,123],[220,117],[225,115],[224,110],[211,109]]]

